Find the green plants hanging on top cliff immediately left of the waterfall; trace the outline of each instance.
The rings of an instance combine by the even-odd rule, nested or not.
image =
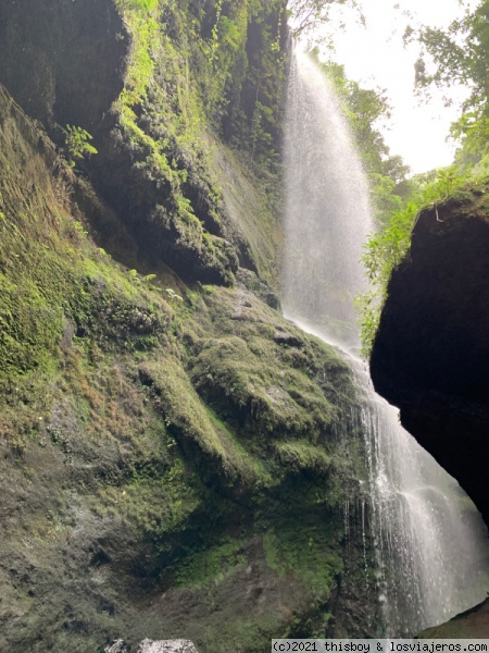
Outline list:
[[[249,147],[251,162],[277,173],[283,93],[286,82],[285,2],[222,3],[218,19],[213,79],[209,79],[217,128],[240,149]],[[249,35],[260,44],[248,46]],[[202,64],[201,64],[202,65]],[[215,98],[215,99],[213,99]],[[213,118],[215,124],[215,118]]]

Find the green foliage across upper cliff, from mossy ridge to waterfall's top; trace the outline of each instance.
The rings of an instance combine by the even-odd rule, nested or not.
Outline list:
[[[276,118],[281,103],[275,89],[284,86],[285,60],[283,49],[272,45],[279,36],[274,21],[284,5],[284,0],[266,7],[246,0],[211,1],[205,7],[190,0],[184,5],[162,0],[159,7],[165,21],[160,22],[149,5],[118,3],[131,34],[125,86],[116,104],[121,138],[137,159],[134,168],[141,182],[167,189],[153,209],[162,237],[175,241],[179,256],[185,251],[196,267],[206,269],[209,280],[221,278],[226,284],[235,281],[237,261],[222,239],[228,239],[228,214],[212,172],[209,133],[213,130],[230,140],[239,132],[241,149],[249,147],[253,165],[261,172],[267,168],[267,175],[261,175],[262,184],[267,182],[266,197],[278,196]],[[263,42],[250,67],[251,23],[262,33]],[[244,84],[251,75],[254,84],[265,64],[266,83],[256,79],[263,89],[256,96]],[[254,104],[247,115],[240,109],[248,107],[243,94],[249,93],[263,104],[254,121]]]

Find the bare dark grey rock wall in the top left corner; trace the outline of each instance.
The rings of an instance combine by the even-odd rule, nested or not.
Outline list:
[[[97,134],[123,88],[127,47],[111,0],[0,1],[0,82],[48,125]]]

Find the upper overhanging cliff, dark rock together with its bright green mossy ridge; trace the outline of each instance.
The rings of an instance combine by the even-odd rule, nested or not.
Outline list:
[[[217,76],[209,69],[209,57],[202,57],[217,11],[215,2],[202,11],[198,1],[181,8],[171,4],[162,1],[159,13],[153,1],[0,0],[0,83],[62,150],[66,150],[68,126],[93,137],[98,156],[78,158],[78,168],[116,217],[117,231],[129,232],[133,241],[120,243],[112,221],[108,224],[97,212],[87,214],[111,256],[128,268],[141,269],[151,261],[153,271],[158,261],[187,282],[233,285],[238,259],[241,266],[258,269],[254,259],[263,259],[261,249],[274,249],[276,243],[269,235],[265,248],[250,243],[240,219],[246,215],[253,224],[255,220],[236,211],[236,201],[226,206],[216,178],[221,171],[211,171],[208,132],[216,126],[228,140],[247,143],[241,132],[251,128],[254,101],[268,106],[274,96],[278,99],[285,79],[286,2],[274,0],[250,15],[242,1],[226,8],[226,20],[240,26],[240,42],[225,61],[214,63],[230,69],[220,70]],[[265,29],[279,32],[274,49],[264,44]],[[281,70],[268,82],[266,98],[259,97],[254,76],[261,78],[260,62],[267,56],[275,61],[276,50]],[[193,74],[198,82],[190,79]],[[234,83],[227,84],[227,78]],[[195,101],[197,86],[205,87],[204,103],[222,124],[209,124],[211,118],[196,110],[191,121],[199,127],[189,127],[188,104],[201,102]],[[251,107],[239,108],[250,94]],[[227,106],[226,115],[211,96],[222,98],[215,102]],[[261,125],[268,130],[269,143],[276,144],[277,99],[271,124]],[[242,175],[235,171],[235,176],[239,184]],[[266,214],[265,207],[260,209]],[[238,224],[233,220],[236,212]],[[275,251],[271,254],[274,258]]]

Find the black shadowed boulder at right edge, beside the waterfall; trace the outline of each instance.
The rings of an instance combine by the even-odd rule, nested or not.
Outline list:
[[[371,371],[402,424],[489,522],[489,218],[484,194],[421,213],[388,287]]]

